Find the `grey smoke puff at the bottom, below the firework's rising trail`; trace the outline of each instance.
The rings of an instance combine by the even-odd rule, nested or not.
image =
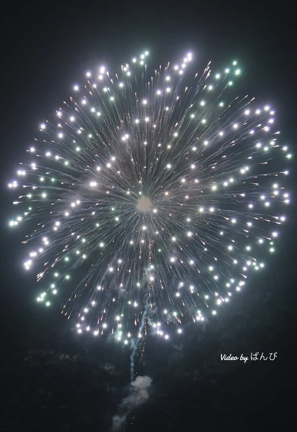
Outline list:
[[[148,376],[139,376],[135,381],[131,382],[131,394],[125,397],[120,404],[120,410],[125,413],[121,416],[115,415],[112,418],[111,430],[113,432],[120,432],[124,430],[126,424],[126,416],[133,409],[141,405],[145,400],[148,400],[148,388],[152,384],[152,378]]]

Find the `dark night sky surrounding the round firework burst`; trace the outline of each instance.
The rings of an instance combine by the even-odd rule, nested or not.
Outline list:
[[[6,3],[0,39],[5,413],[0,430],[107,431],[129,384],[127,352],[81,341],[59,311],[38,310],[35,279],[24,276],[20,264],[19,232],[7,230],[13,206],[6,185],[37,125],[99,62],[121,64],[146,48],[157,61],[191,50],[205,64],[240,60],[245,90],[277,106],[282,139],[296,154],[292,7],[285,2]],[[249,292],[203,332],[189,331],[183,347],[148,338],[137,370],[152,377],[151,394],[128,414],[127,431],[294,429],[289,422],[295,422],[296,384],[295,186],[292,175],[293,203],[280,250]],[[220,360],[221,353],[256,351],[278,352],[278,358],[246,364]],[[112,369],[102,366],[107,362]]]

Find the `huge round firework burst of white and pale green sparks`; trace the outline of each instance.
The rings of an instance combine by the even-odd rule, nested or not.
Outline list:
[[[88,72],[9,184],[10,225],[36,223],[23,243],[38,302],[125,344],[230,302],[276,250],[289,203],[291,155],[274,111],[234,94],[237,62],[201,75],[187,54],[152,74],[147,56]]]

